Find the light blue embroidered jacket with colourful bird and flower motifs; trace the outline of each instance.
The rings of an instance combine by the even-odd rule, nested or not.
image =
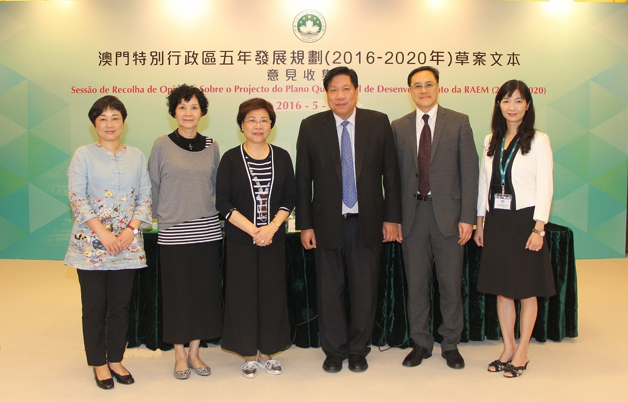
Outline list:
[[[116,236],[133,218],[142,221],[141,228],[152,225],[151,180],[146,157],[139,149],[122,145],[114,155],[98,142],[79,147],[68,167],[68,197],[76,221],[65,265],[80,270],[146,267],[141,231],[129,248],[114,257],[85,225],[97,217]]]

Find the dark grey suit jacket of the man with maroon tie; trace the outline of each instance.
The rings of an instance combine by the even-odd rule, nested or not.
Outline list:
[[[403,236],[412,230],[419,188],[416,109],[393,122],[401,173]],[[467,115],[438,105],[431,145],[430,188],[436,223],[443,236],[458,234],[458,222],[474,225],[479,159]]]

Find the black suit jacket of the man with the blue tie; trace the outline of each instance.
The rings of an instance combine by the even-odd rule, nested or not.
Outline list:
[[[360,233],[364,246],[372,247],[382,242],[382,223],[401,222],[399,166],[388,116],[356,108],[354,147]],[[317,246],[335,250],[342,219],[342,167],[332,110],[301,122],[296,193],[296,228],[313,229]]]

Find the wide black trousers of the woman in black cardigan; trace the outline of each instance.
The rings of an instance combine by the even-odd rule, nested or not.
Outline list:
[[[225,241],[222,348],[241,356],[283,351],[290,345],[285,238],[264,247]]]

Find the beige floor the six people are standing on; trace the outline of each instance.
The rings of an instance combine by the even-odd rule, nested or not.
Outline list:
[[[460,344],[467,367],[435,354],[417,368],[407,351],[369,354],[369,369],[322,370],[320,349],[292,347],[276,358],[284,373],[246,379],[242,361],[219,347],[202,349],[208,378],[173,378],[172,351],[129,349],[136,384],[95,386],[85,363],[76,272],[58,261],[0,260],[0,401],[627,401],[628,258],[579,260],[579,332],[563,342],[533,342],[521,378],[486,371],[500,342]],[[111,399],[114,398],[114,399]]]

